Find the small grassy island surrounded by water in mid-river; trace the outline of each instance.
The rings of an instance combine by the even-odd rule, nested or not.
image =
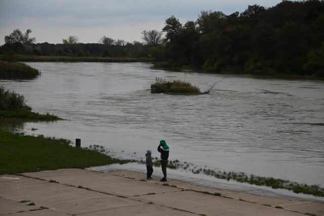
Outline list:
[[[164,93],[173,95],[202,95],[207,92],[200,92],[200,89],[189,82],[181,80],[166,81],[163,78],[156,77],[155,83],[151,84],[151,93]]]

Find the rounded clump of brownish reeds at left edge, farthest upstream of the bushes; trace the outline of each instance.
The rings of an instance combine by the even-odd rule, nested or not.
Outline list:
[[[41,72],[24,63],[4,62],[0,60],[0,79],[33,79]]]

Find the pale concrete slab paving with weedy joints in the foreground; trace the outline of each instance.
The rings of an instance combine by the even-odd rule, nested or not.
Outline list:
[[[0,214],[323,215],[324,203],[216,190],[134,171],[58,169],[0,176]]]

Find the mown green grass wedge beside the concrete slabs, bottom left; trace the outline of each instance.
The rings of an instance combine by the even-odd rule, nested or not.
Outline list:
[[[23,136],[0,130],[0,175],[126,162],[69,144],[68,140]]]

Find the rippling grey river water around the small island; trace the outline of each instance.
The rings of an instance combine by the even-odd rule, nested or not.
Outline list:
[[[65,121],[9,122],[26,134],[81,139],[115,156],[144,158],[159,140],[170,160],[324,184],[324,82],[172,72],[146,63],[27,63],[33,80],[0,80],[39,113]],[[206,95],[151,94],[155,77],[185,80]],[[36,129],[36,130],[35,130]]]

